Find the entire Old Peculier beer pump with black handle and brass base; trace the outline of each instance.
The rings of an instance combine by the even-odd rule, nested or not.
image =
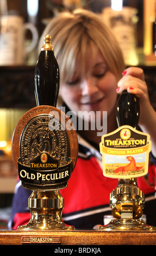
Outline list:
[[[59,67],[51,36],[46,35],[35,69],[38,106],[23,115],[13,135],[19,178],[24,188],[33,190],[28,199],[30,221],[18,230],[74,229],[62,221],[60,190],[67,186],[76,164],[78,141],[70,119],[56,107],[58,92]]]

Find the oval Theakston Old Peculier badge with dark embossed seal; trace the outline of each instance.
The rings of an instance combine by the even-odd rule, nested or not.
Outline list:
[[[76,163],[77,149],[70,143],[72,137],[75,142],[76,131],[63,112],[57,109],[56,113],[53,109],[50,106],[30,109],[14,131],[13,157],[18,153],[18,176],[22,186],[31,190],[66,187]],[[15,142],[20,144],[19,152]]]

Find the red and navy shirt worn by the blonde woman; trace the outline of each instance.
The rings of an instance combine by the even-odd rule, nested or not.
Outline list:
[[[111,215],[110,193],[117,187],[118,179],[103,175],[102,155],[91,144],[78,136],[79,154],[76,167],[68,181],[68,186],[60,190],[65,207],[63,221],[76,229],[92,229],[104,224],[104,216]],[[148,225],[156,226],[156,159],[149,162],[148,174],[137,178],[138,187],[145,194],[143,216]],[[28,198],[32,191],[17,182],[13,199],[10,229],[17,229],[30,220]]]

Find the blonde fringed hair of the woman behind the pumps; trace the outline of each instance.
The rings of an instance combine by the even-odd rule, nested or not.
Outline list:
[[[42,33],[39,51],[46,34],[52,36],[62,81],[72,77],[78,60],[84,71],[86,50],[89,47],[92,54],[96,54],[98,48],[108,69],[120,79],[124,69],[121,49],[113,33],[96,14],[89,10],[74,10],[73,13],[65,12],[54,17]]]

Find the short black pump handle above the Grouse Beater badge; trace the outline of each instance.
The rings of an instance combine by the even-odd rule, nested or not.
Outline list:
[[[140,106],[139,99],[126,90],[118,97],[116,105],[116,119],[118,127],[130,125],[137,129],[139,123]]]

